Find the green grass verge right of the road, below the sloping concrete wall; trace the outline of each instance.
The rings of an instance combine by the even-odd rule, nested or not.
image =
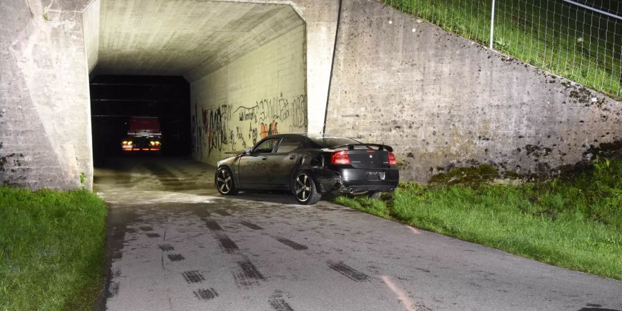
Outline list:
[[[538,261],[622,281],[622,160],[542,182],[404,184],[334,202]]]

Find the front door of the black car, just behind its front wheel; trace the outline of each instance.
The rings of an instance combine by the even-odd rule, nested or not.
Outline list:
[[[281,138],[269,138],[258,142],[250,154],[240,158],[239,180],[242,188],[269,189],[274,187],[271,171],[277,163],[272,154]]]

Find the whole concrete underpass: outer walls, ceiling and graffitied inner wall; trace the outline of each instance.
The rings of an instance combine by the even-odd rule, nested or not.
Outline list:
[[[622,140],[619,101],[375,0],[0,2],[0,183],[91,187],[89,73],[191,82],[194,158],[270,133],[396,147],[402,176],[554,173]],[[612,144],[615,145],[615,144]]]

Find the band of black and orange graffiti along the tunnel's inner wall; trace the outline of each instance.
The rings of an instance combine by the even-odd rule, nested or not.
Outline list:
[[[208,156],[214,151],[237,151],[278,134],[277,126],[291,133],[306,131],[307,125],[306,95],[285,98],[281,94],[235,109],[227,104],[200,108],[195,103],[191,117],[192,149],[195,153],[205,151]]]

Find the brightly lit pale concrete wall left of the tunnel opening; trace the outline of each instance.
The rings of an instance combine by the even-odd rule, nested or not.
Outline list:
[[[0,2],[0,185],[91,187],[84,6]]]

